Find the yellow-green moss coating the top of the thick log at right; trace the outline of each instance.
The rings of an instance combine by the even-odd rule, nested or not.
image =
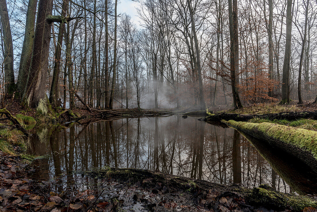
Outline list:
[[[274,123],[262,122],[249,123],[243,121],[223,121],[229,126],[236,127],[240,130],[254,131],[258,130],[264,135],[280,140],[284,143],[294,145],[303,150],[307,150],[317,159],[317,132],[306,129],[299,129],[290,126],[283,126]]]

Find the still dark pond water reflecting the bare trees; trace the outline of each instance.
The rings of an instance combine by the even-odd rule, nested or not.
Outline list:
[[[72,171],[111,166],[221,184],[242,183],[250,188],[265,183],[287,193],[314,193],[314,170],[263,141],[247,140],[232,128],[197,119],[126,118],[69,128],[41,127],[33,135],[29,153],[49,155],[36,161],[36,177],[43,180],[74,180]]]

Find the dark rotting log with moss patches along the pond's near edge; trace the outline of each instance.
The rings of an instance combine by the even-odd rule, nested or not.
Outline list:
[[[137,184],[147,189],[159,189],[158,185],[160,188],[165,186],[168,188],[166,192],[175,195],[189,192],[194,199],[206,199],[210,198],[210,195],[215,195],[213,197],[214,201],[212,201],[213,204],[218,204],[217,202],[222,197],[232,196],[236,199],[242,197],[249,204],[241,204],[240,207],[256,206],[276,210],[290,209],[292,211],[301,211],[305,207],[317,207],[317,201],[312,197],[280,193],[268,185],[260,185],[259,188],[253,189],[243,188],[238,184],[221,185],[204,180],[133,168],[106,167],[89,170],[82,174],[99,179],[111,177],[118,181],[126,181],[131,186]],[[213,206],[211,205],[211,207]]]

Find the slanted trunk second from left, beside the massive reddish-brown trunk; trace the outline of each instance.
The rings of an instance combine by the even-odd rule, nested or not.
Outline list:
[[[18,79],[16,82],[17,89],[20,95],[23,95],[26,79],[28,78],[29,68],[32,58],[35,16],[36,16],[37,0],[29,0],[28,11],[26,13],[25,34],[23,40],[23,47],[21,51],[21,59],[19,66]]]

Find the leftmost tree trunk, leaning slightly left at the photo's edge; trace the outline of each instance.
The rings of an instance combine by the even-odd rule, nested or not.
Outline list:
[[[2,34],[3,34],[3,65],[4,65],[4,90],[5,98],[10,98],[15,90],[14,83],[14,73],[13,73],[13,43],[12,34],[10,28],[9,13],[7,8],[6,0],[0,0],[0,17],[2,24]]]

